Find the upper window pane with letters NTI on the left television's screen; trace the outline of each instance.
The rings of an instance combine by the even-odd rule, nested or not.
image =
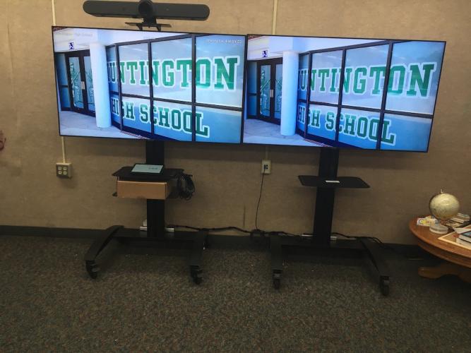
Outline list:
[[[147,43],[122,45],[118,48],[122,93],[149,97]]]

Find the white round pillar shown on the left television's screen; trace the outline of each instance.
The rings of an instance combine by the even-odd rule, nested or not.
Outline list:
[[[99,128],[111,126],[111,109],[109,107],[109,87],[107,52],[105,45],[90,43],[90,64],[92,66],[93,98],[95,116]]]

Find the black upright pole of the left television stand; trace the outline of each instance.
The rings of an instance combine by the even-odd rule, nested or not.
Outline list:
[[[145,141],[145,162],[147,164],[164,164],[164,141]],[[165,200],[147,201],[147,234],[148,237],[164,237],[165,235]]]

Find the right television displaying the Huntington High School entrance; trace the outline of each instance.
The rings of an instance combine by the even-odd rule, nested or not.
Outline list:
[[[425,152],[444,49],[249,35],[243,142]]]

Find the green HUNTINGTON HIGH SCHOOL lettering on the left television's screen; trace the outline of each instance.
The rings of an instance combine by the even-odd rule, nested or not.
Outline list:
[[[237,70],[241,64],[240,56],[214,56],[212,58],[201,57],[195,62],[196,88],[208,89],[217,92],[232,92],[237,90]],[[108,81],[118,82],[117,62],[108,61]],[[190,58],[162,59],[152,61],[152,82],[154,88],[167,88],[169,92],[175,90],[191,90],[192,61]],[[119,73],[121,85],[140,85],[149,87],[148,61],[120,61]],[[155,92],[155,91],[154,91]],[[159,91],[162,93],[162,91]],[[147,97],[149,93],[145,94]],[[157,95],[154,94],[155,97]],[[160,97],[160,96],[159,96]],[[166,96],[164,96],[166,97]],[[178,98],[174,98],[179,100]],[[145,98],[147,99],[147,98]],[[181,99],[186,102],[186,99]],[[165,102],[155,101],[153,116],[155,131],[165,128],[176,132],[191,135],[191,109],[179,109]],[[158,107],[156,106],[158,104]],[[188,102],[191,104],[191,102]],[[111,98],[112,113],[119,116],[119,100]],[[130,100],[122,102],[123,119],[128,121],[140,121],[141,124],[150,124],[149,104],[136,104]],[[210,138],[210,126],[203,123],[202,112],[195,114],[195,133],[202,138]]]

